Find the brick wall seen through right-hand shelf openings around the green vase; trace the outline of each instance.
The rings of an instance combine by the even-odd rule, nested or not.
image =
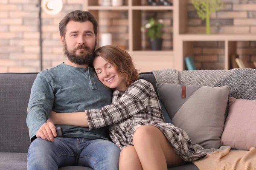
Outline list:
[[[189,0],[188,33],[205,34],[202,21]],[[224,7],[211,14],[211,34],[256,34],[256,0],[221,0]],[[237,54],[247,58],[253,67],[256,42],[238,42]],[[252,57],[249,57],[251,55]],[[224,69],[224,42],[195,42],[194,59],[198,69]]]

